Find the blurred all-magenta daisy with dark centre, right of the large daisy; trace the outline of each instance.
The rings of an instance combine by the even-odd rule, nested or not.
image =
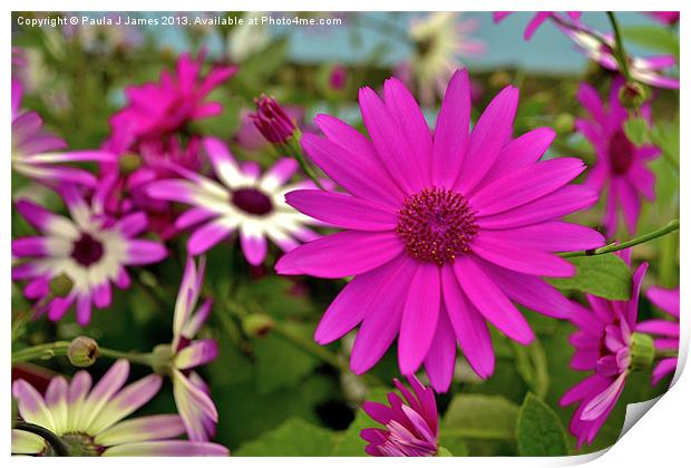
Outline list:
[[[619,213],[623,212],[626,231],[636,231],[641,214],[641,199],[655,199],[655,175],[646,164],[660,156],[653,145],[636,147],[624,133],[629,113],[620,103],[623,79],[612,81],[609,106],[605,108],[597,91],[583,82],[576,98],[590,114],[588,118],[576,119],[576,129],[593,145],[597,157],[590,170],[586,185],[606,194],[604,225],[607,237],[616,234]],[[650,123],[650,103],[641,111]]]

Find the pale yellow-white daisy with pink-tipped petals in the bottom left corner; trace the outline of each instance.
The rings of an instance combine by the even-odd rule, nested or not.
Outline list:
[[[30,383],[16,380],[12,394],[19,416],[58,436],[70,456],[81,457],[184,457],[227,456],[217,443],[177,439],[185,432],[177,415],[144,416],[125,420],[146,404],[160,389],[160,377],[148,376],[123,387],[129,362],[119,360],[91,388],[91,377],[79,371],[68,382],[51,379],[45,396]],[[12,429],[12,455],[51,456],[39,436]]]

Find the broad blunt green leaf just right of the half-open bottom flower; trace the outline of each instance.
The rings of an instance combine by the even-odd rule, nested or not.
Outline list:
[[[518,406],[500,396],[457,394],[441,420],[444,437],[513,440]]]

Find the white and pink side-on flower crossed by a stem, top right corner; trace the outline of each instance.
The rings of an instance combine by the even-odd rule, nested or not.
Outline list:
[[[559,26],[562,31],[576,45],[576,49],[603,68],[620,71],[614,53],[615,41],[612,35],[604,35],[583,23],[576,27]],[[658,88],[679,89],[679,78],[662,74],[663,70],[677,67],[673,56],[630,57],[629,74],[636,81]]]

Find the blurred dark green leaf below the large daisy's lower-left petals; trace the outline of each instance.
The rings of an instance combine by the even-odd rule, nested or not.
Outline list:
[[[309,339],[312,337],[311,328],[288,322],[284,326]],[[256,389],[261,393],[295,387],[319,364],[313,355],[274,333],[257,339],[254,343]]]

